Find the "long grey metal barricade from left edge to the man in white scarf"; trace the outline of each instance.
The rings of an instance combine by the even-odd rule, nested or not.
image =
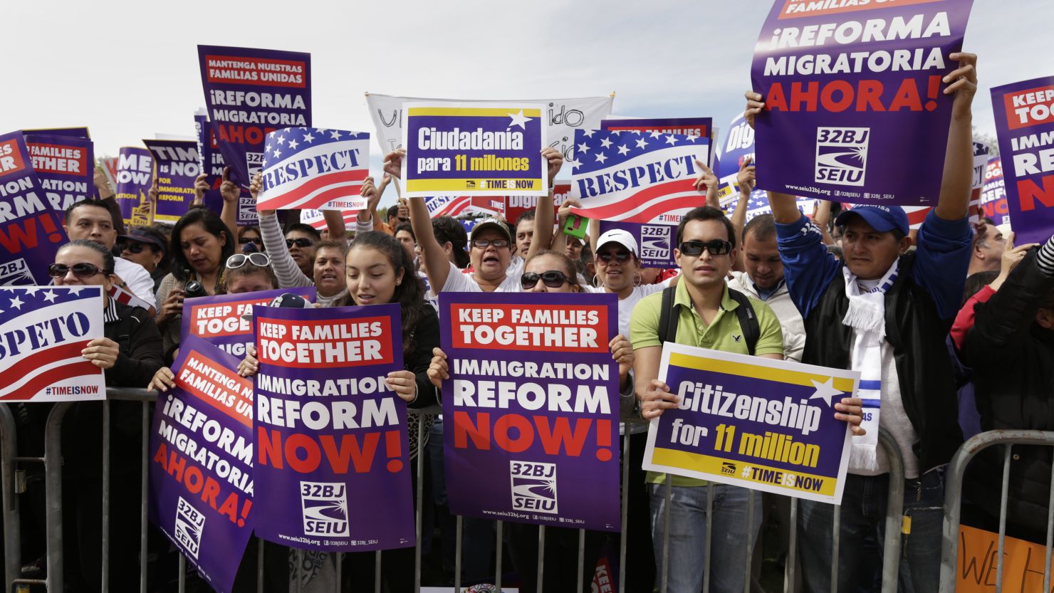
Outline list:
[[[110,468],[110,408],[111,401],[139,401],[141,402],[141,457],[140,457],[140,469],[142,470],[142,478],[140,483],[140,508],[139,508],[139,518],[140,518],[140,533],[139,533],[139,591],[140,593],[147,592],[148,584],[148,550],[147,550],[147,489],[149,480],[149,442],[150,442],[150,426],[151,426],[151,415],[150,406],[152,402],[156,401],[157,393],[147,390],[135,390],[135,389],[109,389],[108,390],[108,400],[100,403],[103,410],[103,437],[101,443],[102,450],[102,540],[100,541],[100,549],[102,554],[102,581],[100,584],[101,591],[108,592],[110,590],[110,551],[111,541],[109,535],[109,526],[111,523],[110,517],[110,481],[111,481],[111,468]],[[5,542],[5,591],[11,591],[13,584],[35,584],[43,585],[46,590],[52,592],[63,591],[63,579],[62,579],[62,466],[61,466],[61,428],[62,420],[66,412],[72,408],[72,403],[59,403],[56,404],[51,415],[47,418],[45,428],[45,451],[44,457],[41,458],[22,458],[15,457],[15,422],[11,411],[7,406],[0,406],[0,470],[3,474],[3,519],[4,519],[4,542]],[[441,413],[442,410],[438,406],[422,409],[422,410],[410,410],[411,421],[417,422],[417,429],[419,431],[421,437],[417,439],[417,468],[416,468],[416,502],[415,502],[415,531],[416,531],[416,546],[414,551],[414,591],[421,590],[421,573],[422,573],[422,537],[426,535],[431,537],[431,534],[422,533],[422,515],[423,515],[423,505],[424,500],[424,463],[426,462],[425,456],[425,427],[426,421],[429,416],[434,416]],[[624,439],[623,439],[623,455],[622,455],[622,496],[621,496],[621,520],[622,520],[622,533],[620,537],[620,549],[619,549],[619,580],[618,580],[618,591],[623,593],[626,588],[626,549],[628,537],[650,537],[649,533],[646,534],[629,534],[627,533],[628,527],[628,489],[629,483],[629,450],[630,450],[630,434],[629,426],[637,423],[642,423],[642,420],[630,420],[625,422]],[[1054,433],[1052,433],[1054,434]],[[124,443],[122,443],[123,446]],[[882,592],[893,593],[897,588],[897,571],[899,566],[899,547],[900,547],[900,521],[901,512],[903,505],[903,466],[900,459],[899,449],[893,441],[893,438],[886,434],[884,431],[879,434],[879,446],[886,452],[890,466],[891,466],[891,479],[889,488],[889,507],[886,510],[885,517],[885,542],[884,542],[884,555],[883,555],[883,567],[882,567]],[[24,579],[19,577],[20,571],[20,557],[18,555],[19,549],[19,532],[18,532],[18,507],[15,495],[15,476],[16,468],[15,464],[18,461],[22,462],[44,462],[45,467],[45,483],[46,483],[46,530],[47,530],[47,546],[46,546],[46,561],[47,561],[47,575],[45,579]],[[666,486],[666,517],[667,522],[665,534],[666,537],[661,542],[663,548],[663,566],[662,570],[659,571],[658,579],[660,580],[660,590],[665,593],[666,591],[666,570],[667,561],[669,558],[669,495],[671,491],[671,486],[669,480],[667,480]],[[754,510],[756,508],[756,492],[749,493],[748,501],[748,519],[747,519],[747,531],[753,533],[754,528]],[[794,529],[794,523],[796,522],[797,516],[797,500],[792,499],[792,511],[790,511],[790,547],[789,554],[786,561],[785,574],[784,574],[784,591],[792,591],[795,582],[795,557],[797,553],[797,537],[796,529]],[[713,490],[707,493],[707,516],[710,515],[714,505],[714,493]],[[835,508],[835,521],[834,521],[834,550],[832,551],[833,567],[832,573],[837,577],[838,573],[838,548],[839,548],[839,509]],[[760,513],[759,513],[760,515]],[[455,538],[455,559],[454,559],[454,587],[455,591],[461,590],[462,586],[462,568],[463,568],[463,521],[461,516],[455,517],[456,530],[454,534]],[[956,516],[957,520],[957,516]],[[494,571],[494,585],[501,589],[502,575],[503,575],[503,545],[504,545],[504,525],[502,521],[495,521],[495,571]],[[591,570],[592,567],[585,566],[585,530],[579,530],[579,549],[578,549],[578,586],[577,590],[581,593],[585,571]],[[706,530],[707,546],[706,546],[706,565],[708,566],[708,557],[710,551],[710,538],[711,529],[708,523]],[[533,570],[536,570],[536,577],[539,580],[539,587],[542,586],[542,579],[545,574],[545,540],[546,540],[546,530],[544,527],[540,527],[538,535],[538,554],[539,564]],[[276,543],[267,543],[267,546],[278,546]],[[660,542],[656,542],[658,548]],[[753,552],[753,546],[747,546],[747,555],[744,558],[743,570],[744,570],[744,593],[748,593],[750,589],[750,575],[752,575],[752,562],[750,556]],[[1049,550],[1048,550],[1049,553]],[[301,559],[302,552],[298,552],[296,555],[297,560]],[[347,571],[341,571],[341,560],[344,558],[343,554],[333,555],[335,561],[336,571],[336,582],[337,591],[339,591],[341,577],[343,578],[354,578],[353,575],[348,575]],[[374,560],[374,590],[379,593],[382,590],[382,554],[380,552],[375,553]],[[178,590],[180,593],[184,591],[186,588],[186,572],[187,565],[186,559],[182,555],[179,555],[178,560],[179,572],[178,572]],[[299,578],[299,570],[301,570],[302,564],[300,561],[296,562],[296,572],[292,575],[293,582],[291,589],[293,591],[301,590],[301,579]],[[520,570],[525,570],[522,567],[518,567]],[[532,569],[526,569],[532,570]],[[533,571],[532,571],[533,572]],[[257,550],[257,567],[255,571],[257,575],[257,591],[262,592],[264,589],[264,541],[258,540]],[[708,571],[704,572],[704,592],[709,591],[709,576]],[[833,578],[833,587],[837,588],[837,578]]]

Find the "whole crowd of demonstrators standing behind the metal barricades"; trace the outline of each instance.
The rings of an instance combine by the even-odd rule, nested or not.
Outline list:
[[[1054,237],[1041,245],[1015,246],[1013,234],[991,221],[971,224],[976,57],[959,54],[952,59],[959,67],[944,80],[943,93],[954,96],[954,112],[940,195],[917,232],[909,228],[899,206],[846,210],[821,202],[807,216],[794,197],[778,193],[768,195],[773,214],[747,221],[745,206],[756,175],[749,159],[740,166],[739,204],[729,216],[718,203],[717,177],[699,163],[700,205],[677,228],[679,266],[648,269],[641,265],[640,245],[629,233],[601,234],[599,224],[589,224],[583,241],[560,232],[570,209],[580,204],[570,198],[558,210],[551,193],[515,221],[480,220],[470,233],[450,217],[430,218],[421,198],[401,199],[383,220],[377,204],[398,176],[404,156],[396,151],[386,156],[380,184],[373,178],[364,183],[362,196],[368,205],[359,211],[354,229],[346,229],[339,213],[327,213],[325,239],[298,222],[295,212],[281,217],[260,211],[258,225],[237,226],[238,187],[225,179],[219,186],[222,212],[212,212],[203,206],[210,190],[204,176],[198,179],[195,204],[175,225],[125,230],[113,189],[100,176],[102,199],[66,210],[70,242],[48,272],[57,285],[98,284],[108,290],[105,337],[91,342],[83,356],[105,370],[106,384],[113,387],[165,391],[174,386],[170,367],[180,343],[184,299],[299,286],[316,289],[318,307],[399,304],[405,369],[391,373],[387,381],[412,408],[436,403],[442,382],[449,379],[446,354],[438,348],[437,312],[429,307],[440,292],[618,295],[619,335],[609,349],[619,369],[620,411],[627,419],[651,420],[678,404],[678,396],[659,378],[664,341],[857,371],[862,377],[859,397],[837,402],[835,413],[855,436],[841,505],[838,590],[874,591],[881,580],[891,479],[889,459],[878,447],[881,428],[892,435],[903,460],[904,514],[911,519],[910,534],[902,537],[900,590],[935,592],[943,468],[964,435],[1054,428]],[[764,97],[747,93],[747,122],[753,125],[755,118],[764,117],[763,111]],[[543,155],[551,182],[563,156],[552,149]],[[260,189],[257,176],[250,185],[253,197]],[[134,295],[135,305],[111,298],[113,285]],[[239,367],[245,376],[257,370],[253,354]],[[880,407],[868,407],[868,401]],[[19,421],[39,428],[42,412],[21,408]],[[867,420],[864,409],[874,412]],[[136,406],[114,403],[113,438],[121,444],[112,447],[113,475],[135,485],[141,478],[138,413]],[[79,443],[99,438],[101,423],[97,406],[77,406],[70,414],[63,450],[70,528],[64,542],[66,582],[70,590],[87,591],[98,588],[101,564],[99,461]],[[438,558],[444,579],[452,582],[454,522],[446,509],[443,430],[442,417],[430,419],[421,432],[411,423],[409,451],[414,480],[417,466],[425,466],[424,554]],[[803,500],[797,522],[790,523],[787,499],[765,495],[747,520],[748,491],[678,476],[671,479],[667,501],[666,476],[641,468],[646,430],[643,422],[623,424],[622,438],[629,439],[630,452],[629,489],[622,493],[628,498],[626,591],[651,591],[663,566],[668,566],[670,592],[698,593],[704,573],[714,591],[742,591],[745,558],[758,545],[764,521],[779,523],[784,534],[797,530],[802,590],[831,590],[831,505]],[[28,440],[20,447],[32,454],[39,443]],[[427,456],[417,458],[422,440]],[[1015,451],[1008,533],[1043,541],[1051,454],[1032,448]],[[997,525],[999,481],[991,476],[999,471],[1001,457],[994,452],[978,458],[967,482],[970,512],[964,520],[984,528]],[[30,482],[32,494],[32,477]],[[111,492],[119,493],[111,497],[115,509],[138,508],[137,486]],[[706,506],[708,497],[713,509]],[[132,517],[138,513],[121,516],[110,538],[115,590],[130,587],[138,574],[133,567],[145,561],[136,555],[139,526]],[[31,555],[41,553],[40,527],[37,521],[23,528]],[[492,521],[464,520],[463,584],[492,578],[494,555],[502,553],[495,550],[493,530]],[[667,536],[669,557],[664,558],[662,541]],[[587,533],[587,567],[608,539]],[[161,552],[167,548],[154,543]],[[575,530],[548,530],[544,582],[535,581],[536,527],[508,526],[506,546],[522,579],[521,591],[573,590],[579,578]],[[707,546],[708,566],[703,560]],[[252,550],[239,573],[239,590],[255,590]],[[267,550],[265,590],[288,590],[291,574],[300,575],[305,591],[332,590],[334,555],[305,554],[304,570],[291,571],[294,555],[276,545]],[[412,588],[412,553],[407,549],[383,554],[380,578],[387,590]],[[348,554],[344,561],[346,574],[355,575],[352,590],[372,590],[373,555]],[[173,569],[168,570],[171,574]],[[583,578],[588,591],[591,571]]]

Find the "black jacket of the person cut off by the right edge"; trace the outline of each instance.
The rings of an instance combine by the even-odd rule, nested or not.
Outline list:
[[[981,430],[1054,430],[1054,331],[1035,322],[1054,278],[1036,266],[1036,249],[1026,255],[987,303],[976,308],[962,344],[973,369]],[[983,450],[971,462],[964,493],[993,516],[999,514],[1001,447]],[[1046,540],[1052,450],[1015,446],[1010,462],[1007,518],[1027,535]]]

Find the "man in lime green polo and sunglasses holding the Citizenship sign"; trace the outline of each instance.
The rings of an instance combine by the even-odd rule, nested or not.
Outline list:
[[[758,338],[749,352],[736,309],[744,307],[729,294],[725,277],[736,259],[736,233],[724,213],[710,206],[697,207],[681,219],[675,250],[681,266],[674,309],[677,342],[738,354],[783,359],[783,333],[767,304],[750,298],[758,321]],[[633,373],[641,413],[646,420],[677,407],[678,398],[658,379],[662,356],[662,293],[645,297],[633,309],[629,337],[633,344]],[[665,474],[648,472],[651,498],[651,538],[657,571],[662,570],[665,525]],[[761,525],[761,498],[755,506],[754,532],[746,533],[748,491],[743,488],[675,476],[670,496],[669,593],[699,593],[703,586],[706,521],[713,519],[715,546],[710,552],[710,590],[743,591],[747,548],[754,548]],[[714,489],[713,517],[706,515],[706,489]],[[662,578],[662,575],[659,575]]]

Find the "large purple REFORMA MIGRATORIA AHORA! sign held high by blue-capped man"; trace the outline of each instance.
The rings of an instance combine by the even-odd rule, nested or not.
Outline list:
[[[776,0],[754,55],[758,187],[935,205],[973,0]]]

